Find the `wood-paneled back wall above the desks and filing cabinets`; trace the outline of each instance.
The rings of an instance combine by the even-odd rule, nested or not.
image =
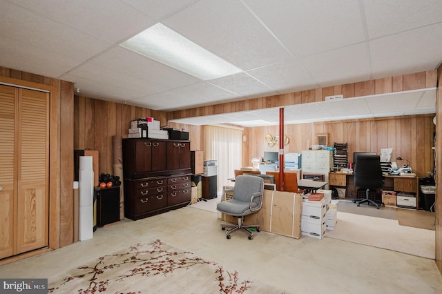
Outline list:
[[[393,148],[392,161],[396,157],[408,159],[413,172],[426,177],[433,170],[435,126],[434,115],[412,115],[376,119],[352,119],[311,124],[285,126],[284,133],[289,138],[285,153],[300,153],[316,144],[316,134],[327,133],[329,146],[333,143],[349,144],[349,162],[355,151],[381,152],[381,148]],[[249,166],[250,159],[262,157],[264,151],[278,151],[279,145],[267,146],[266,135],[278,135],[279,126],[247,128],[249,137],[249,158],[243,165]],[[405,162],[398,164],[405,164]]]

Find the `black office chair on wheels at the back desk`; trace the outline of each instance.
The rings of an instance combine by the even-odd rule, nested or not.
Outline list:
[[[377,209],[379,209],[379,205],[384,206],[382,202],[369,199],[369,191],[382,188],[383,184],[381,157],[379,155],[358,156],[354,170],[354,184],[359,188],[365,189],[365,198],[353,200],[357,206],[364,203],[368,205],[373,204]]]

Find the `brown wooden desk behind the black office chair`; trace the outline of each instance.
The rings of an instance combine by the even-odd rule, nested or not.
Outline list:
[[[354,184],[352,173],[329,173],[329,185],[345,188],[345,197],[357,197],[357,187]],[[382,189],[414,193],[416,195],[416,209],[419,209],[419,177],[385,175]]]

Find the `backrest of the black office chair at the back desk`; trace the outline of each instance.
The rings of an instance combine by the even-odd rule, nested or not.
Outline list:
[[[354,184],[360,188],[382,188],[381,157],[359,155],[354,170]]]

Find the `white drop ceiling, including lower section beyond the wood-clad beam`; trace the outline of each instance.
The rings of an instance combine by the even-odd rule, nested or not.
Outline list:
[[[79,95],[182,110],[411,72],[442,61],[440,0],[0,0],[0,66],[75,84]],[[119,46],[171,28],[240,68],[202,80]],[[287,106],[302,123],[435,112],[435,89]],[[278,124],[278,108],[177,120]]]

